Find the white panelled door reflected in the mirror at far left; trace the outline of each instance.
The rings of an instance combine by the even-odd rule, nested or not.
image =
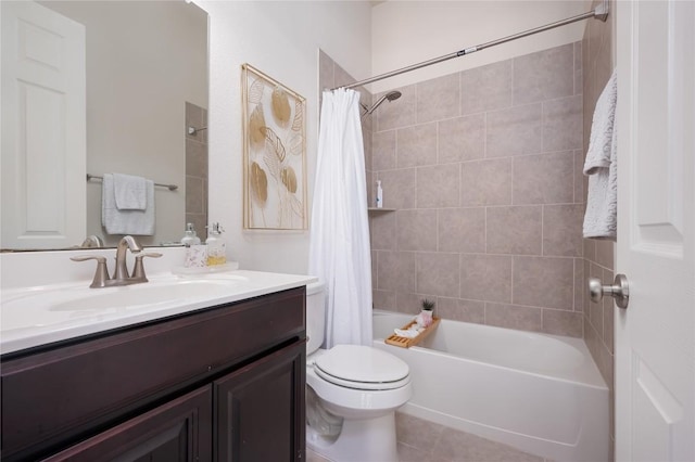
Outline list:
[[[85,27],[30,1],[2,15],[2,248],[86,232]]]

